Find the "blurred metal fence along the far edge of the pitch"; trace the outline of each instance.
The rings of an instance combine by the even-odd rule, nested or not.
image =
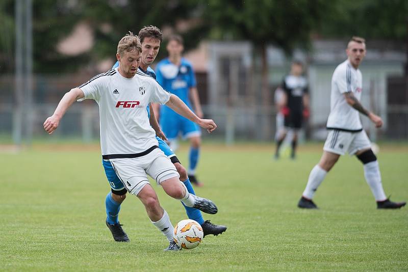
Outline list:
[[[33,138],[45,137],[46,133],[42,124],[48,116],[53,114],[63,94],[70,88],[85,82],[88,78],[88,75],[36,75],[33,77],[33,102],[31,105],[21,108],[14,103],[13,75],[0,76],[0,141],[10,142],[13,139],[14,142],[18,142],[18,134],[20,134],[22,142],[30,142]],[[319,85],[319,83],[315,83],[315,85]],[[384,90],[375,91],[376,88],[380,87],[374,87],[371,88],[374,90],[373,98],[371,100],[367,98],[365,101],[365,105],[369,108],[380,104],[379,101],[384,99]],[[312,96],[312,101],[313,99]],[[305,122],[305,133],[303,134],[307,139],[324,140],[328,111],[319,105],[322,102],[316,100],[315,102],[317,104],[312,102],[312,116],[310,122]],[[381,103],[384,104],[384,101]],[[206,118],[212,118],[218,124],[218,129],[211,135],[203,131],[203,139],[216,139],[225,141],[227,144],[233,144],[235,141],[273,141],[274,139],[276,111],[273,105],[261,106],[257,103],[245,103],[244,105],[206,104],[203,105],[203,111]],[[372,140],[408,139],[407,103],[386,103],[386,107],[382,107],[379,114],[387,123],[384,129],[379,130],[375,129],[368,119],[362,116],[364,127]],[[85,142],[98,139],[99,110],[97,104],[91,100],[74,103],[53,135],[53,139],[55,138],[80,138]]]

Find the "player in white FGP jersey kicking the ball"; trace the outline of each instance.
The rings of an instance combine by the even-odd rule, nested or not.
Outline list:
[[[146,107],[150,102],[166,104],[209,132],[217,126],[213,120],[198,118],[177,96],[165,91],[156,80],[138,72],[141,52],[137,36],[131,33],[123,37],[116,55],[119,67],[99,74],[66,93],[53,116],[44,122],[44,129],[49,134],[53,133],[75,100],[94,99],[99,105],[103,159],[111,162],[127,191],[144,204],[152,224],[169,240],[167,250],[179,250],[173,242],[173,226],[169,216],[160,206],[146,174],[162,185],[166,194],[188,207],[210,214],[216,213],[217,207],[208,199],[189,194],[180,182],[174,165],[158,148]]]

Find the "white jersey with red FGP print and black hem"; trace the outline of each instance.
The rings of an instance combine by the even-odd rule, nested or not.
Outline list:
[[[85,97],[99,105],[100,148],[104,159],[136,157],[158,145],[146,107],[170,99],[155,79],[137,71],[123,77],[118,68],[99,74],[79,86]],[[151,151],[151,150],[150,150]]]

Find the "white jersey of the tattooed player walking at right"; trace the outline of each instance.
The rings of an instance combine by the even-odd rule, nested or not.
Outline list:
[[[359,69],[354,69],[350,62],[339,64],[331,77],[330,115],[327,119],[328,129],[360,131],[363,129],[360,114],[351,107],[344,93],[353,92],[360,101],[363,90],[363,76]]]

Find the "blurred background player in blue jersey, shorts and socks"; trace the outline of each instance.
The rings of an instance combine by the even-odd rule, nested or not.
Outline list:
[[[202,117],[193,67],[186,59],[182,58],[184,49],[182,37],[179,35],[171,36],[166,49],[169,57],[157,64],[156,80],[165,90],[179,96],[190,109],[194,106],[195,114]],[[183,138],[190,140],[189,169],[187,172],[191,183],[200,186],[201,183],[195,176],[201,144],[200,128],[167,106],[160,108],[160,126],[174,150],[176,149],[176,141],[180,133]]]

